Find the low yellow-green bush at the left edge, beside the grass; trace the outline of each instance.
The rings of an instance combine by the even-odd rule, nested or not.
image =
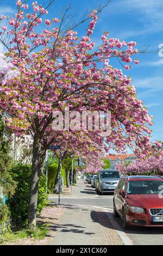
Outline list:
[[[8,206],[0,200],[0,235],[10,229],[10,211]]]

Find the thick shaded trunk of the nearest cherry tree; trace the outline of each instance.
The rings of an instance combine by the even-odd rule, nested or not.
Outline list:
[[[30,180],[29,206],[28,206],[28,227],[36,228],[37,195],[39,188],[39,176],[42,166],[41,141],[35,135],[33,142],[32,175]]]

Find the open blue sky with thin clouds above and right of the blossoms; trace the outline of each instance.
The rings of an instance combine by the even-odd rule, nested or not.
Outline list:
[[[32,2],[32,1],[29,1]],[[37,1],[45,2],[44,0]],[[0,4],[0,13],[12,16],[15,10],[15,1],[3,0]],[[49,9],[49,16],[59,17],[61,8],[71,4],[71,12],[76,17],[85,13],[87,9],[95,9],[103,1],[55,1]],[[85,33],[86,24],[78,28],[79,35]],[[84,32],[83,32],[84,29]],[[141,51],[157,51],[159,44],[163,44],[163,2],[162,0],[112,0],[108,7],[99,15],[96,30],[92,35],[98,44],[104,31],[110,37],[137,42]],[[163,141],[163,57],[158,53],[139,54],[139,65],[132,65],[130,70],[123,70],[124,74],[132,78],[137,89],[137,96],[148,107],[149,114],[154,116],[152,141]],[[118,63],[114,62],[114,66]]]

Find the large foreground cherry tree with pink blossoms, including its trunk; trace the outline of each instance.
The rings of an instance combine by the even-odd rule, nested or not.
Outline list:
[[[147,124],[152,125],[152,117],[137,99],[131,78],[110,63],[117,58],[129,69],[128,64],[138,52],[136,42],[108,38],[105,32],[101,45],[96,47],[91,35],[102,9],[91,11],[88,17],[67,28],[68,8],[60,19],[44,18],[52,3],[43,8],[35,1],[33,10],[28,11],[28,4],[18,0],[17,13],[0,31],[0,41],[8,50],[5,57],[20,71],[12,83],[0,84],[0,109],[10,114],[6,122],[16,135],[26,133],[33,137],[30,229],[36,226],[38,182],[48,147],[43,140],[48,135],[52,144],[57,137],[52,129],[54,111],[64,112],[65,107],[70,112],[111,111],[111,133],[105,139],[108,150],[123,153],[129,145],[140,156],[153,151],[159,154],[150,141]],[[76,28],[89,19],[86,34],[78,38]],[[137,64],[138,60],[135,58],[134,62]],[[97,135],[101,136],[99,132]]]

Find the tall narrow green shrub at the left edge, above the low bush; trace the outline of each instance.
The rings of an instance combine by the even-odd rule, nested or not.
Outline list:
[[[12,197],[16,182],[12,179],[10,157],[10,138],[4,120],[0,118],[0,186],[7,197]]]

